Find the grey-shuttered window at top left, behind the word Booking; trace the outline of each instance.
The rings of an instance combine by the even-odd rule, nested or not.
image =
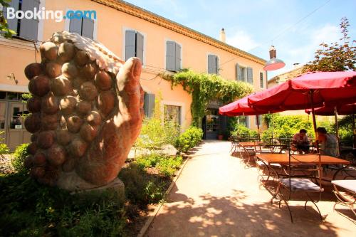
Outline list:
[[[14,8],[16,11],[34,11],[33,9],[39,9],[40,1],[39,0],[12,0],[9,3],[9,7]],[[3,9],[4,16],[7,19],[7,10],[6,7]],[[7,19],[9,28],[13,31],[16,31],[15,36],[21,38],[26,38],[28,40],[37,41],[38,34],[38,19]]]

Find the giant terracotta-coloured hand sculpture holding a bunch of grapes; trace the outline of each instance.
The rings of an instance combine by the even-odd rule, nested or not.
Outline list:
[[[96,41],[66,31],[41,45],[25,68],[33,133],[25,165],[43,184],[83,190],[117,177],[140,133],[141,63],[125,63]]]

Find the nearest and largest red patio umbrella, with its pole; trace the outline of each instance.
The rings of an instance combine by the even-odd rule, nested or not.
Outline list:
[[[342,105],[356,102],[356,72],[305,73],[273,88],[248,96],[254,110],[312,109],[328,104]],[[316,136],[316,134],[315,134]]]

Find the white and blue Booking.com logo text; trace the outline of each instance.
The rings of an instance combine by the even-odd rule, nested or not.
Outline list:
[[[66,14],[63,11],[52,11],[46,10],[44,7],[40,9],[33,9],[33,11],[15,11],[13,7],[8,7],[6,9],[7,19],[38,19],[38,20],[48,20],[54,19],[56,22],[63,21],[63,19],[96,19],[96,11],[73,11],[68,10]]]

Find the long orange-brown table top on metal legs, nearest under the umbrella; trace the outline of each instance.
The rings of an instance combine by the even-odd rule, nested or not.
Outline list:
[[[263,153],[263,154],[256,154],[256,157],[258,157],[258,159],[261,159],[261,161],[266,164],[266,167],[268,169],[268,174],[271,174],[273,172],[274,174],[276,174],[277,179],[279,178],[279,174],[278,174],[278,172],[276,172],[276,170],[273,169],[271,164],[281,164],[281,165],[289,164],[288,154],[268,154],[268,153]],[[293,154],[293,157],[303,157],[303,162],[310,162],[310,163],[315,162],[315,158],[308,157],[308,156],[305,156],[303,154]],[[294,159],[293,157],[290,157],[290,164],[299,164],[300,161],[298,161],[298,159]],[[308,158],[310,160],[308,160]],[[333,175],[333,179],[335,179],[337,173],[339,173],[340,171],[342,171],[342,169],[345,169],[347,166],[350,165],[350,162],[345,160],[345,159],[339,159],[339,158],[330,157],[330,156],[327,156],[327,155],[321,155],[320,156],[320,163],[322,165],[325,165],[325,164],[342,165],[340,167],[340,169],[337,169],[337,171]],[[273,201],[273,199],[276,198],[277,193],[273,194],[273,192],[271,192],[270,190],[268,190],[268,191],[273,195],[272,198],[271,198],[271,201]]]

